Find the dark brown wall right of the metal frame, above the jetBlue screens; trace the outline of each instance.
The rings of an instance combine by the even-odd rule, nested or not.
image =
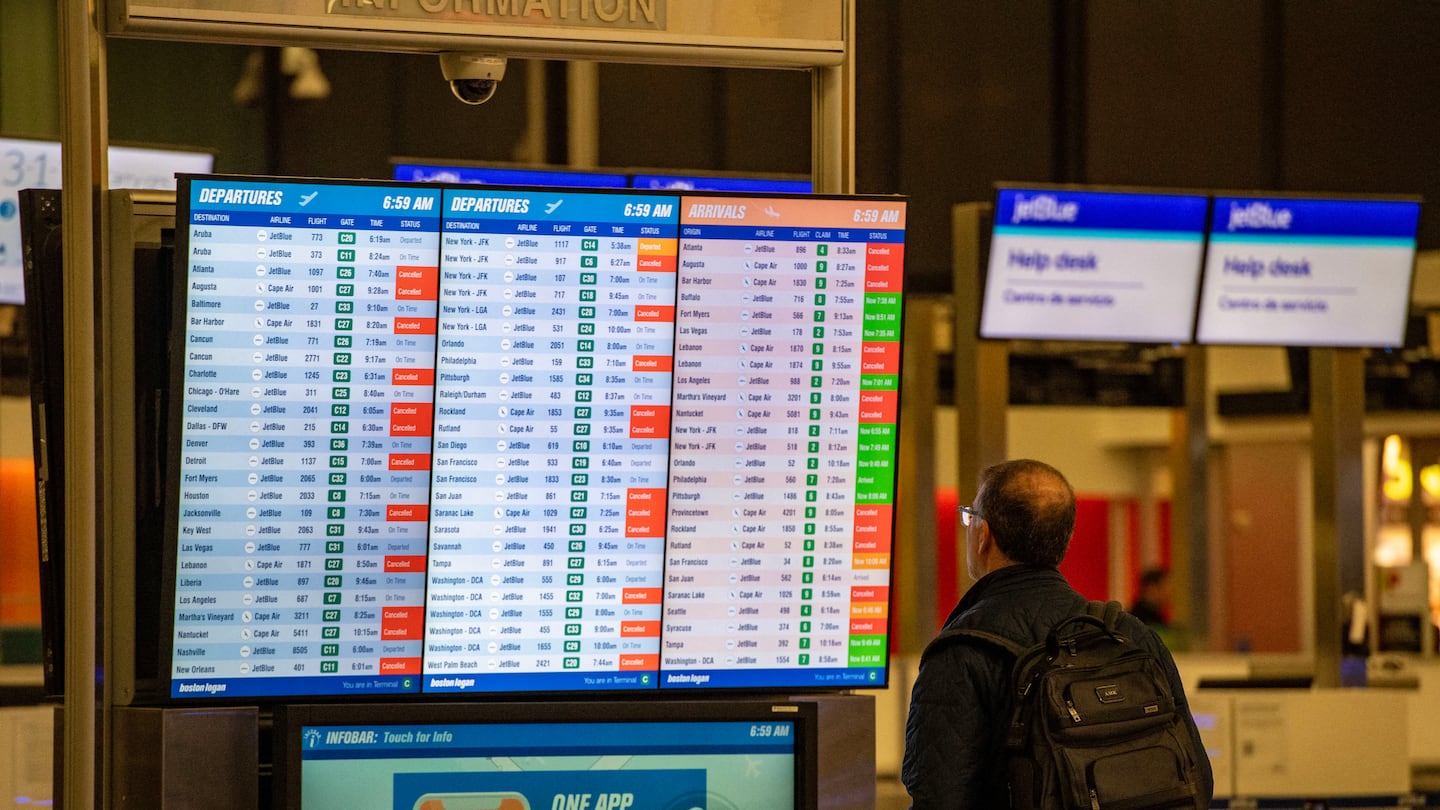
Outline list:
[[[1440,200],[1440,4],[962,0],[858,10],[860,62],[888,76],[888,86],[861,85],[860,186],[913,197],[912,290],[949,290],[949,206],[988,199],[996,180]],[[1440,248],[1433,210],[1420,242]]]

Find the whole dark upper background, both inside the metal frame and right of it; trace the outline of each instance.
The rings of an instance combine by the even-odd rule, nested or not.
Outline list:
[[[998,180],[1440,200],[1440,3],[852,1],[857,190],[910,196],[912,291],[949,291],[950,206]],[[235,52],[115,40],[112,138],[213,146],[243,128],[217,170],[373,177],[396,156],[516,160],[526,134],[518,62],[494,101],[464,107],[433,56],[333,50],[330,98],[242,110]],[[564,65],[540,75],[546,160],[566,163]],[[802,71],[605,63],[599,161],[806,173],[809,94]],[[1440,248],[1428,210],[1421,248]]]

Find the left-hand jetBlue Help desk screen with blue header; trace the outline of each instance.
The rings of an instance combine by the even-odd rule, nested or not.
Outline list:
[[[1202,195],[1001,187],[981,337],[1185,343]]]

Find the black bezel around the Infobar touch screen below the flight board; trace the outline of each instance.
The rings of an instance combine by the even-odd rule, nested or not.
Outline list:
[[[289,703],[272,725],[275,810],[304,810],[301,735],[305,726],[495,725],[495,724],[652,724],[792,722],[795,728],[795,810],[818,807],[818,722],[814,702],[756,699],[586,700],[494,703]],[[539,810],[539,809],[537,809]]]

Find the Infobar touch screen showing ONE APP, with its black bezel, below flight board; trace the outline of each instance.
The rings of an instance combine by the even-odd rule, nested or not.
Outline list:
[[[815,807],[804,702],[287,706],[275,807]]]

